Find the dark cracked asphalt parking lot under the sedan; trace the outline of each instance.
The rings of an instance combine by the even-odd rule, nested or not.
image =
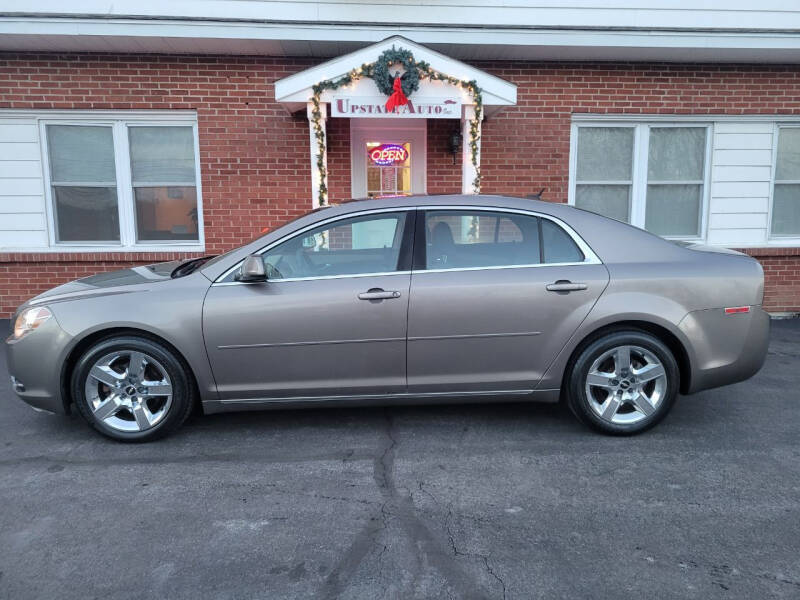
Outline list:
[[[634,438],[479,404],[125,445],[20,402],[0,351],[0,598],[145,597],[799,598],[800,320]]]

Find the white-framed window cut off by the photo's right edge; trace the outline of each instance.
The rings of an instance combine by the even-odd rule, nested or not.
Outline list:
[[[800,127],[778,128],[770,233],[800,236]]]

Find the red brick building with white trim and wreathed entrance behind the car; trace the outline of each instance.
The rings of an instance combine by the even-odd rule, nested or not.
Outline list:
[[[491,11],[495,20],[512,18]],[[744,17],[767,20],[768,12],[742,11],[742,31]],[[589,13],[582,18],[600,19]],[[519,18],[537,22],[543,14]],[[419,35],[397,26],[407,37],[370,44],[345,39],[355,23],[344,22],[355,18],[350,7],[342,22],[327,25],[335,40],[297,33],[288,52],[285,39],[266,43],[263,19],[236,21],[264,30],[259,45],[252,32],[226,43],[200,33],[175,37],[181,24],[230,25],[220,16],[146,16],[0,17],[0,318],[77,277],[223,252],[319,201],[471,193],[478,170],[481,193],[543,190],[545,200],[670,238],[741,249],[764,266],[767,309],[800,311],[796,41],[770,58],[748,47],[744,33],[730,42],[736,47],[709,49],[711,30],[692,42],[695,50],[689,42],[666,49],[637,42],[623,52],[611,40],[618,27],[601,24],[608,39],[589,45],[565,24],[561,45],[544,51],[544,43],[500,43],[503,31],[525,23],[475,24],[474,36],[451,31],[432,43],[431,24],[421,21]],[[147,38],[155,35],[147,28],[167,17],[173,37]],[[686,37],[713,15],[694,17],[697,27],[669,35]],[[666,17],[653,16],[650,29],[659,18]],[[100,29],[51,31],[67,21]],[[114,29],[125,24],[133,30]],[[378,39],[392,29],[387,24]],[[108,48],[98,47],[101,31]],[[456,39],[462,43],[447,41]],[[477,81],[485,117],[474,138],[477,168],[475,98],[458,83],[423,78],[409,98],[429,112],[401,116],[368,112],[386,97],[363,77],[327,90],[315,123],[312,86],[373,63],[392,46],[455,81]],[[316,126],[324,131],[324,174]],[[371,150],[384,144],[404,148],[405,159],[371,161]]]

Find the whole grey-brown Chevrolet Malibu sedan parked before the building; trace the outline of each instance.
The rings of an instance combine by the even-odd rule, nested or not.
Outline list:
[[[763,283],[748,256],[565,205],[366,200],[56,287],[6,343],[25,402],[122,441],[193,409],[502,400],[632,434],[759,370]]]

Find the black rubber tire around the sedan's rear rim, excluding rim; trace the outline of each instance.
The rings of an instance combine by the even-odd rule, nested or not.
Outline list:
[[[592,408],[590,405],[591,400],[587,397],[586,392],[586,380],[594,361],[620,346],[634,346],[652,353],[663,366],[666,377],[666,390],[655,406],[654,412],[635,423],[614,423],[604,419]],[[588,343],[578,353],[566,377],[566,400],[573,414],[589,427],[611,435],[633,435],[656,425],[675,404],[680,388],[680,370],[670,349],[657,337],[636,329],[609,332]],[[617,380],[615,379],[614,381]],[[602,393],[609,392],[603,391]],[[633,412],[635,406],[632,403],[623,404],[621,410]]]

